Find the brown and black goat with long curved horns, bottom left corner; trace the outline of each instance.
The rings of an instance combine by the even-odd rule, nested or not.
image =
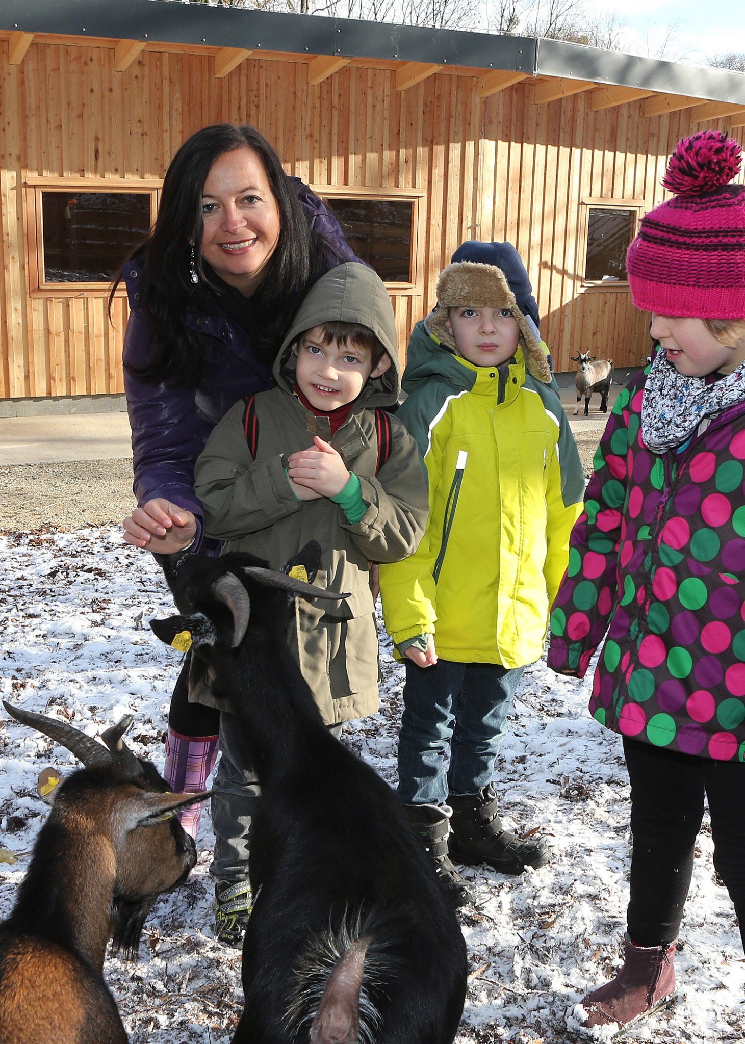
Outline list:
[[[196,862],[173,813],[209,794],[170,793],[155,766],[122,741],[131,716],[103,733],[102,746],[72,726],[3,706],[86,767],[59,786],[55,772],[40,777],[42,796],[43,781],[53,787],[51,812],[0,924],[0,1042],[125,1044],[102,974],[109,935],[113,929],[115,949],[136,953],[156,898]]]

